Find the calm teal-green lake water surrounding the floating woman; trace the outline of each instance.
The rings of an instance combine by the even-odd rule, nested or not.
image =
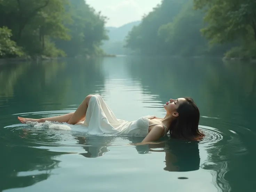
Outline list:
[[[117,118],[165,114],[170,98],[197,103],[199,143],[90,136],[30,127],[17,116],[74,111],[100,94]],[[256,65],[219,59],[117,57],[0,65],[0,191],[254,191]]]

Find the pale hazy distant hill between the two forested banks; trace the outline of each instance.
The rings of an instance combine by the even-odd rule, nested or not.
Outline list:
[[[106,30],[109,31],[109,41],[123,41],[128,35],[128,32],[133,29],[133,26],[139,25],[140,23],[141,21],[135,21],[122,25],[121,27],[106,27]]]

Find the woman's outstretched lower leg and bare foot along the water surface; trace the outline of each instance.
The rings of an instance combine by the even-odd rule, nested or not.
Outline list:
[[[72,117],[72,115],[74,114],[74,112],[72,113],[68,113],[65,115],[59,115],[56,117],[49,117],[49,118],[42,118],[42,119],[30,119],[30,118],[22,118],[22,117],[18,117],[18,120],[21,121],[22,123],[26,123],[27,121],[32,121],[32,122],[45,122],[45,121],[57,121],[57,122],[67,122],[70,120],[70,118]]]

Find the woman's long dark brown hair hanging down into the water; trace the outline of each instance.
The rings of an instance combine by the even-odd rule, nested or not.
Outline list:
[[[193,99],[186,97],[186,102],[179,105],[179,114],[170,125],[170,136],[177,139],[199,141],[204,134],[198,130],[200,113]]]

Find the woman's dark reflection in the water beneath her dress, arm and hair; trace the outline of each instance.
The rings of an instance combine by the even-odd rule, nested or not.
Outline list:
[[[78,144],[82,146],[87,153],[80,153],[87,158],[101,157],[108,152],[108,146],[113,145],[117,137],[76,137]],[[199,169],[200,157],[198,142],[186,142],[167,139],[159,144],[136,145],[141,142],[139,137],[126,137],[131,144],[135,144],[135,149],[139,154],[161,152],[165,153],[166,171],[194,171]]]

